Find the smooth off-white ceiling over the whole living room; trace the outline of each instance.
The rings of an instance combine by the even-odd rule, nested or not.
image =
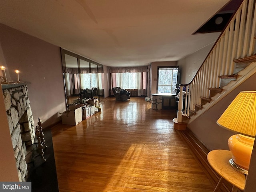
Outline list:
[[[0,0],[0,23],[106,66],[176,61],[214,42],[192,35],[229,0]]]

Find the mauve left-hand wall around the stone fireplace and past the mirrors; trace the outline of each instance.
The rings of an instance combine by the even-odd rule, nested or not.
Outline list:
[[[34,125],[37,126],[38,117],[43,120],[43,128],[59,122],[59,112],[66,110],[60,47],[3,24],[0,28],[0,66],[6,67],[9,81],[16,81],[14,70],[18,69],[20,81],[29,82]],[[107,71],[104,66],[105,97],[109,96]],[[0,181],[18,181],[3,94],[0,94],[0,128],[0,146],[4,146],[0,148]]]

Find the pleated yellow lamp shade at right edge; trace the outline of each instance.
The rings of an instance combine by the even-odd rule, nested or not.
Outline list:
[[[240,92],[217,120],[217,124],[223,128],[255,137],[256,91]]]

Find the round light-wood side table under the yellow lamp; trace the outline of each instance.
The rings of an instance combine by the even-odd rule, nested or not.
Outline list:
[[[244,190],[246,176],[230,166],[230,158],[232,154],[229,150],[212,150],[207,155],[210,166],[221,176],[214,192],[218,191],[224,179],[233,185],[232,192]]]

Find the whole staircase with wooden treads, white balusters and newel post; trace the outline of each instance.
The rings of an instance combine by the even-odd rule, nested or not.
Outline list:
[[[185,108],[179,100],[174,128],[186,125],[256,73],[256,0],[244,0],[186,86]]]

